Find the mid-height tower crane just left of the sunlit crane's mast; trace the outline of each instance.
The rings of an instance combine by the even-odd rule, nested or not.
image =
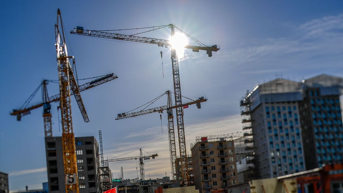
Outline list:
[[[175,146],[175,134],[174,134],[174,115],[173,115],[173,109],[175,109],[177,106],[173,105],[172,102],[172,97],[171,97],[171,91],[167,90],[164,94],[168,96],[167,99],[167,105],[165,106],[160,106],[152,109],[147,109],[147,110],[142,110],[138,112],[133,112],[133,113],[120,113],[116,117],[116,120],[123,119],[123,118],[131,118],[135,116],[140,116],[140,115],[145,115],[145,114],[150,114],[150,113],[163,113],[164,110],[167,111],[168,115],[168,137],[169,137],[169,149],[170,149],[170,164],[171,164],[171,172],[173,174],[173,179],[176,179],[176,146]],[[163,94],[163,95],[164,95]],[[161,95],[162,96],[162,95]],[[161,97],[159,96],[159,97]],[[207,101],[206,98],[200,97],[197,100],[192,100],[190,102],[186,102],[182,104],[182,107],[188,107],[188,105],[191,104],[197,104],[198,109],[201,108],[200,103]],[[179,180],[179,179],[177,179]]]

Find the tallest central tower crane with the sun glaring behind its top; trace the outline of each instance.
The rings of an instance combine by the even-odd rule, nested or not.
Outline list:
[[[193,52],[199,52],[199,50],[206,50],[206,54],[209,57],[212,56],[212,52],[218,51],[220,48],[217,45],[213,46],[206,46],[205,44],[199,42],[197,39],[191,37],[184,31],[180,30],[174,24],[168,25],[161,25],[161,26],[154,26],[153,30],[161,29],[163,27],[168,27],[171,29],[171,37],[175,36],[175,29],[179,30],[180,32],[186,34],[188,37],[193,39],[195,42],[199,44],[199,46],[194,45],[186,45],[185,48],[190,48]],[[148,28],[148,27],[144,27]],[[106,30],[110,31],[110,30]],[[152,31],[152,30],[150,30]],[[177,118],[177,128],[178,128],[178,139],[179,139],[179,150],[180,150],[180,162],[181,162],[181,174],[182,174],[182,185],[189,185],[189,172],[188,172],[188,163],[187,163],[187,151],[186,151],[186,141],[185,141],[185,129],[184,129],[184,118],[183,118],[183,111],[182,111],[182,100],[181,100],[181,86],[180,86],[180,73],[179,73],[179,62],[178,62],[178,55],[176,53],[176,48],[171,45],[170,41],[166,39],[156,39],[156,38],[147,38],[147,37],[140,37],[134,35],[125,35],[125,34],[118,34],[118,33],[109,33],[105,31],[94,31],[94,30],[84,30],[83,27],[76,27],[76,29],[72,30],[70,33],[78,34],[78,35],[85,35],[91,37],[100,37],[100,38],[108,38],[108,39],[116,39],[120,41],[131,41],[131,42],[140,42],[146,44],[156,44],[158,46],[165,46],[170,47],[171,51],[171,66],[173,69],[173,82],[174,82],[174,96],[175,96],[175,105],[177,106],[176,109],[176,118]],[[162,56],[162,52],[161,52]]]

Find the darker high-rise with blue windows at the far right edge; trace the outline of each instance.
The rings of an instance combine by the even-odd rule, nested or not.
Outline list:
[[[340,105],[342,78],[319,75],[304,81],[299,107],[306,169],[343,163],[343,127]]]

